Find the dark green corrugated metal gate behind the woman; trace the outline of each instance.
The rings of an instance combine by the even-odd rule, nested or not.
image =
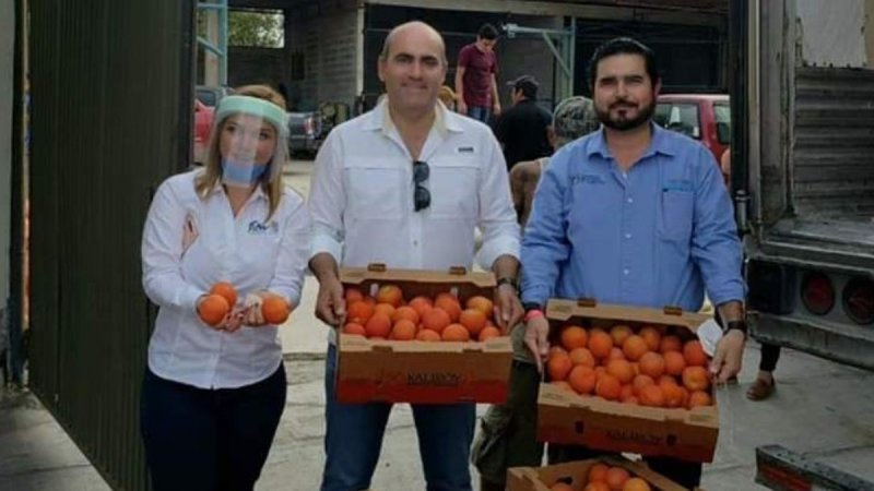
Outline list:
[[[115,489],[146,489],[140,238],[187,165],[191,0],[31,0],[31,387]]]

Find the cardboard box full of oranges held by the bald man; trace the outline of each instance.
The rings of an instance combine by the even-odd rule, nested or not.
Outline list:
[[[338,339],[343,403],[507,399],[508,336],[492,319],[492,273],[343,268],[346,322]]]

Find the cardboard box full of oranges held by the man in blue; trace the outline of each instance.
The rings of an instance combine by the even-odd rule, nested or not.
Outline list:
[[[709,316],[550,300],[538,438],[712,462],[719,412],[696,331]]]

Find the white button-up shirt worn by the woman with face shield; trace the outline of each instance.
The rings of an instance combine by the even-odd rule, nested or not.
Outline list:
[[[311,223],[304,200],[286,189],[265,221],[270,200],[260,187],[234,217],[221,185],[198,196],[202,170],[174,176],[157,190],[143,230],[143,288],[160,307],[149,344],[149,368],[163,379],[200,388],[233,388],[270,376],[282,362],[277,327],[215,331],[196,303],[217,282],[229,282],[238,304],[270,290],[300,300]],[[190,223],[196,233],[186,232]]]

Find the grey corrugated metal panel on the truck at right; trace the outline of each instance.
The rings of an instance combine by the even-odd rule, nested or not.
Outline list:
[[[874,214],[874,70],[796,68],[799,214]]]

